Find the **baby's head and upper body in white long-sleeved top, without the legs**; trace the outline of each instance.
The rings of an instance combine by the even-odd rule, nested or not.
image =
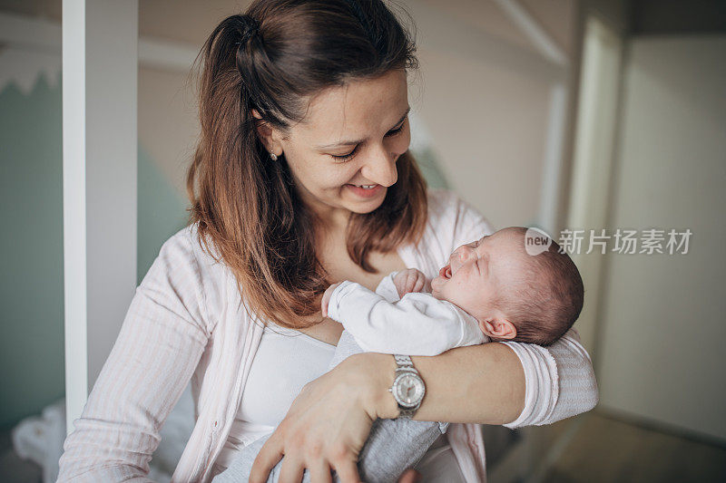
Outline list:
[[[548,345],[574,324],[583,307],[583,280],[552,242],[538,255],[525,249],[526,228],[508,227],[459,246],[431,294],[416,269],[394,272],[371,292],[330,285],[322,313],[343,324],[367,352],[437,355],[490,341]],[[397,297],[386,297],[396,291]]]

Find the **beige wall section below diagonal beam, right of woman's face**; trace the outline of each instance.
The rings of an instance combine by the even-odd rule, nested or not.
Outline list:
[[[420,114],[450,186],[495,227],[534,222],[547,84],[466,55],[421,49],[419,57]]]

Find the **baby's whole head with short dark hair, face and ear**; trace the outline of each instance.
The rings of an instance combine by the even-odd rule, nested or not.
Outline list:
[[[526,228],[508,227],[459,246],[432,280],[433,295],[476,317],[493,340],[548,345],[583,308],[583,279],[553,241],[539,255],[525,249]]]

